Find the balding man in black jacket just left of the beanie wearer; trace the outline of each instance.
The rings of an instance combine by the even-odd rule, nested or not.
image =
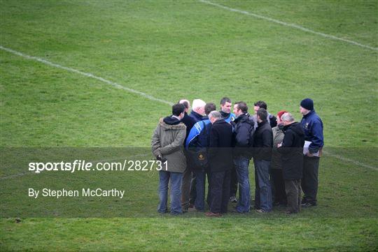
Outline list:
[[[290,113],[281,116],[283,123],[282,144],[279,144],[278,151],[282,154],[283,179],[285,180],[285,191],[288,198],[287,214],[297,214],[300,211],[301,187],[303,169],[303,145],[304,131],[300,123],[295,122]]]

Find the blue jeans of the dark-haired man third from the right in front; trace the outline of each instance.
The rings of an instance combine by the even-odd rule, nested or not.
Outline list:
[[[270,161],[255,160],[255,208],[272,211],[272,188],[269,181]]]

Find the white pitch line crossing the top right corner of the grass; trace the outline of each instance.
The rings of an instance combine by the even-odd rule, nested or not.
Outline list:
[[[297,25],[297,24],[289,24],[289,23],[286,23],[286,22],[282,22],[280,20],[274,20],[273,18],[270,18],[270,17],[265,17],[265,16],[258,15],[258,14],[255,14],[255,13],[250,13],[250,12],[245,11],[245,10],[237,10],[235,8],[230,8],[230,7],[227,7],[227,6],[222,6],[221,4],[212,3],[211,1],[206,1],[206,0],[199,0],[199,1],[202,2],[202,3],[210,4],[212,6],[216,6],[218,8],[223,8],[225,10],[230,10],[230,11],[233,11],[235,13],[241,13],[241,14],[248,15],[248,16],[251,16],[251,17],[256,17],[256,18],[259,18],[259,19],[262,19],[262,20],[267,20],[269,22],[274,22],[276,24],[281,24],[281,25],[284,25],[286,27],[293,27],[295,29],[299,29],[299,30],[302,30],[302,31],[309,32],[310,34],[316,34],[316,35],[323,36],[325,38],[330,38],[330,39],[333,39],[333,40],[340,40],[340,41],[343,41],[343,42],[346,42],[346,43],[349,43],[349,44],[352,44],[352,45],[358,45],[360,47],[365,47],[365,48],[370,49],[370,50],[378,50],[378,47],[372,47],[370,45],[363,45],[361,43],[357,43],[357,42],[355,42],[353,40],[349,40],[349,39],[346,39],[346,38],[339,38],[339,37],[336,37],[336,36],[333,36],[333,35],[323,34],[323,33],[318,32],[318,31],[312,31],[312,30],[307,29],[305,27],[301,27],[300,25]]]

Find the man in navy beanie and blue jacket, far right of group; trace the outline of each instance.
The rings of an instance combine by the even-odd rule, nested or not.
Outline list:
[[[302,207],[316,206],[316,195],[318,193],[318,170],[321,150],[324,145],[323,121],[314,110],[314,101],[305,98],[300,102],[300,113],[303,114],[302,124],[304,140],[311,142],[309,151],[304,156],[302,190]]]

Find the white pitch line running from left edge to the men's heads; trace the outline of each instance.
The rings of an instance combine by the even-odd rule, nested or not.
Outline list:
[[[48,66],[54,66],[55,68],[60,68],[60,69],[66,70],[66,71],[70,71],[72,73],[78,73],[78,74],[84,75],[86,77],[91,77],[93,79],[99,80],[99,81],[104,82],[106,84],[110,84],[111,86],[116,87],[118,89],[123,89],[123,90],[129,91],[130,93],[138,94],[139,96],[143,96],[144,98],[148,98],[148,99],[150,99],[152,101],[159,101],[160,103],[165,103],[165,104],[168,104],[168,105],[173,105],[174,104],[174,103],[171,103],[169,101],[162,100],[160,98],[155,98],[155,97],[150,96],[149,94],[145,94],[145,93],[143,93],[141,91],[138,91],[138,90],[135,90],[135,89],[130,89],[129,87],[124,87],[124,86],[122,86],[122,85],[120,85],[120,84],[118,84],[116,82],[112,82],[110,80],[104,79],[103,77],[99,77],[99,76],[93,75],[92,73],[85,73],[85,72],[78,71],[78,70],[73,69],[73,68],[69,68],[69,67],[66,67],[66,66],[61,66],[59,64],[52,63],[52,62],[47,61],[45,59],[41,59],[41,58],[34,57],[34,56],[29,56],[27,54],[23,54],[22,52],[17,52],[15,50],[3,47],[1,45],[0,45],[0,49],[4,50],[6,52],[10,52],[10,53],[16,54],[16,55],[18,55],[20,57],[23,57],[25,59],[32,59],[32,60],[35,60],[35,61],[39,61],[39,62],[41,62],[43,64],[46,64]]]

